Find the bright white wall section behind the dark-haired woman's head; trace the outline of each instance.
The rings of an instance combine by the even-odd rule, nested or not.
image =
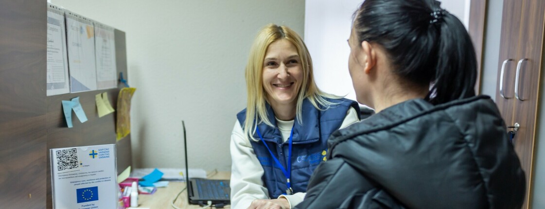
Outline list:
[[[443,0],[441,7],[468,25],[470,0]],[[305,43],[314,62],[318,88],[327,93],[356,100],[348,72],[347,39],[352,28],[352,15],[362,0],[312,0],[305,6]]]

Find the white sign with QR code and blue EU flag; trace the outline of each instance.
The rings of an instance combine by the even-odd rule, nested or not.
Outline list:
[[[50,149],[53,208],[117,208],[116,145]]]

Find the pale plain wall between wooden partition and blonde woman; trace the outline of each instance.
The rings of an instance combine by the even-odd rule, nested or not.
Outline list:
[[[126,33],[135,167],[230,170],[235,114],[245,107],[244,67],[257,30],[303,34],[303,0],[52,0]]]

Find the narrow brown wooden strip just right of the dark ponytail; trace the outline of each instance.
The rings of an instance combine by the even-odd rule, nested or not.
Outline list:
[[[480,94],[483,37],[485,36],[487,0],[472,0],[469,5],[469,26],[468,33],[475,48],[477,56],[477,81],[475,83],[475,94]]]

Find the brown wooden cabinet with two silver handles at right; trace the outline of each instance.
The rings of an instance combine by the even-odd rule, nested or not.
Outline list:
[[[523,208],[529,207],[532,198],[544,14],[545,1],[504,0],[496,103],[507,126],[519,125],[513,145],[526,175]]]

